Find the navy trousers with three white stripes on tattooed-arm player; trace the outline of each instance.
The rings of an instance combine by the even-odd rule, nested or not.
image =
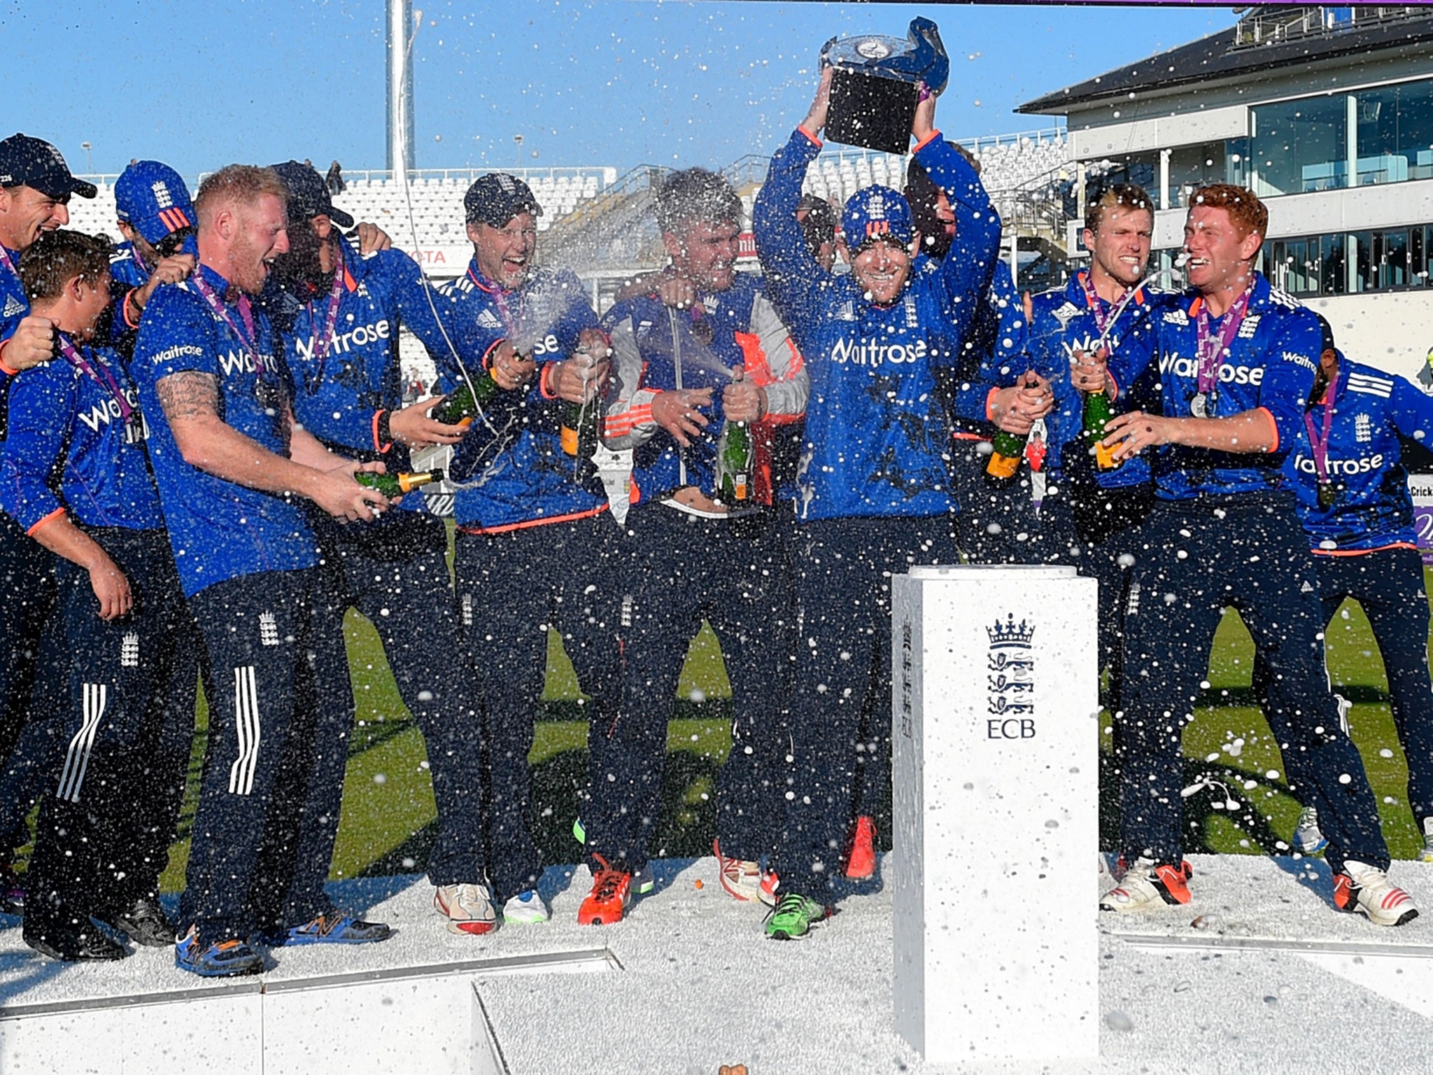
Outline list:
[[[203,946],[332,912],[324,880],[354,704],[331,591],[307,568],[189,598],[209,658],[209,740],[179,920]]]

